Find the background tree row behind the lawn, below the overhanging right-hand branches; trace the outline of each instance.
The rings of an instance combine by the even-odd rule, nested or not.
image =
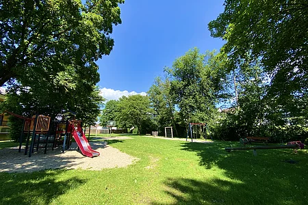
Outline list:
[[[102,125],[116,120],[122,128],[134,126],[140,134],[159,135],[164,135],[165,126],[173,126],[175,136],[185,137],[189,122],[202,122],[216,139],[307,139],[305,96],[273,96],[272,77],[260,61],[232,70],[228,64],[225,53],[192,49],[164,68],[164,77],[155,78],[147,96],[108,101]]]

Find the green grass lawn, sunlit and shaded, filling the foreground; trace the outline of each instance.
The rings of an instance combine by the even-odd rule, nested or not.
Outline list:
[[[140,159],[125,168],[0,173],[0,204],[308,204],[307,150],[130,137],[108,141]]]

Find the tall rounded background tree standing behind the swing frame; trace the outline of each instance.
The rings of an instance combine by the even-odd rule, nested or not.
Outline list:
[[[205,54],[192,49],[166,68],[171,81],[170,96],[182,120],[205,122],[221,97],[225,72],[215,51]]]

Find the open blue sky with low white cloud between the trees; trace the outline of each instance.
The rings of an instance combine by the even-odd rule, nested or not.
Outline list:
[[[207,23],[223,12],[223,0],[127,0],[122,24],[114,27],[114,49],[97,61],[105,98],[147,92],[165,66],[186,51],[219,50]]]

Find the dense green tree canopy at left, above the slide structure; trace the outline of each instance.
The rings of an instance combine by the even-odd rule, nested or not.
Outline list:
[[[95,63],[114,46],[123,0],[0,1],[1,109],[29,115],[71,110],[93,124],[103,98]]]

